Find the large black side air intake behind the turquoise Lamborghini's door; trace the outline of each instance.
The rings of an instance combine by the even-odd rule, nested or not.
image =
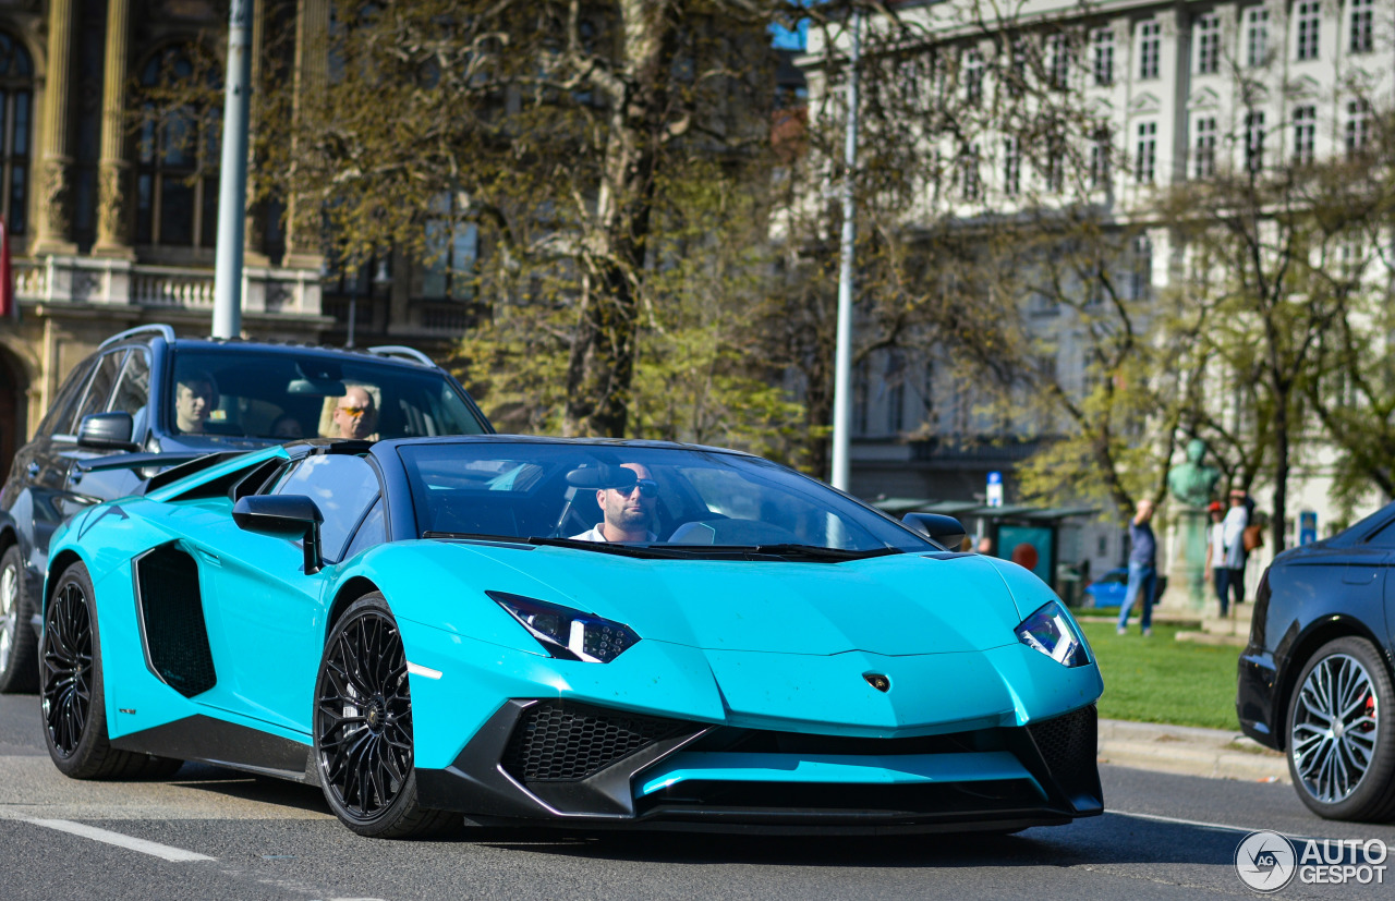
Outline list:
[[[208,647],[198,563],[166,544],[135,562],[141,637],[151,669],[184,697],[213,688],[213,654]]]

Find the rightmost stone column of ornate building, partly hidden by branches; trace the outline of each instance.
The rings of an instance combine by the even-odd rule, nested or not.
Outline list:
[[[292,109],[292,160],[296,137],[324,102],[329,75],[329,0],[299,0],[296,4],[296,93]],[[296,163],[292,162],[292,166]],[[315,269],[324,265],[321,254],[319,206],[292,195],[286,215],[286,261],[289,269]]]

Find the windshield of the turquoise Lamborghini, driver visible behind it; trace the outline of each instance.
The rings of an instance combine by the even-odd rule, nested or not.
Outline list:
[[[939,550],[822,483],[737,453],[504,442],[398,450],[423,537],[547,540],[598,551]]]

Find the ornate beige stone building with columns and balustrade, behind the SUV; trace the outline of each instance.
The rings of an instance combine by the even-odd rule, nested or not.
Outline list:
[[[278,39],[297,89],[325,77],[329,6],[255,0],[252,42]],[[209,333],[222,106],[158,126],[131,113],[141,85],[193,71],[199,42],[222,59],[226,14],[212,0],[0,0],[0,213],[21,311],[0,321],[0,469],[107,335],[141,322]],[[290,225],[306,218],[283,213],[248,215],[248,336],[343,344],[352,331],[359,346],[444,353],[472,321],[451,268],[476,252],[473,233],[432,266],[386,258],[347,279],[325,266],[321,234]]]

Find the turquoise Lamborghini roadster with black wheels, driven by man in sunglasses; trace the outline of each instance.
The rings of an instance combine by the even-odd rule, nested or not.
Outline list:
[[[1099,671],[1050,589],[759,457],[481,435],[93,463],[123,464],[141,494],[70,519],[43,590],[71,777],[208,762],[378,837],[1102,810]]]

